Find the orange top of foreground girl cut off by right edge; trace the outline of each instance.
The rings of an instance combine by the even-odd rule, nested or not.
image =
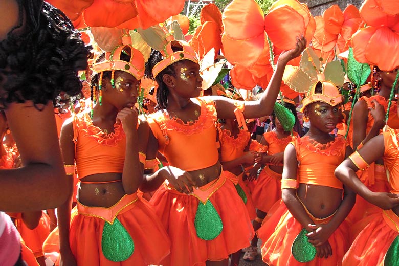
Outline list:
[[[399,129],[391,129],[384,136],[384,166],[389,171],[391,192],[399,194]]]

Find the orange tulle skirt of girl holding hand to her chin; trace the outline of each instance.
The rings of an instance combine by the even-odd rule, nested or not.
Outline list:
[[[134,241],[134,253],[126,260],[113,262],[105,258],[101,241],[105,220],[117,217]],[[159,264],[170,252],[170,241],[152,207],[136,193],[125,195],[114,206],[88,207],[80,204],[72,210],[70,246],[78,265],[142,265]],[[59,252],[58,228],[43,246],[53,257]],[[59,263],[59,258],[56,265]]]

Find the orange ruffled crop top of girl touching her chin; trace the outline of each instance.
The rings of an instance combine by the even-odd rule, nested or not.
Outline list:
[[[126,149],[122,125],[115,124],[114,132],[106,134],[93,125],[89,114],[90,110],[85,109],[72,122],[79,179],[97,173],[122,173]]]

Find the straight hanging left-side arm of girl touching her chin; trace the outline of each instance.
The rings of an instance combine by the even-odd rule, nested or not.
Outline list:
[[[66,120],[61,128],[60,146],[65,164],[75,164],[75,143],[72,119]],[[73,175],[68,175],[68,187],[73,187]],[[65,265],[76,265],[76,259],[69,245],[69,228],[71,221],[73,190],[68,195],[68,200],[57,208],[58,230],[61,260]]]

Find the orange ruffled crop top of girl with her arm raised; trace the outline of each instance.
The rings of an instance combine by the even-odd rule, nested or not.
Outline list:
[[[193,123],[171,119],[167,112],[147,117],[159,151],[169,164],[185,171],[210,167],[219,160],[216,143],[216,108],[207,97],[196,98],[201,114]]]

